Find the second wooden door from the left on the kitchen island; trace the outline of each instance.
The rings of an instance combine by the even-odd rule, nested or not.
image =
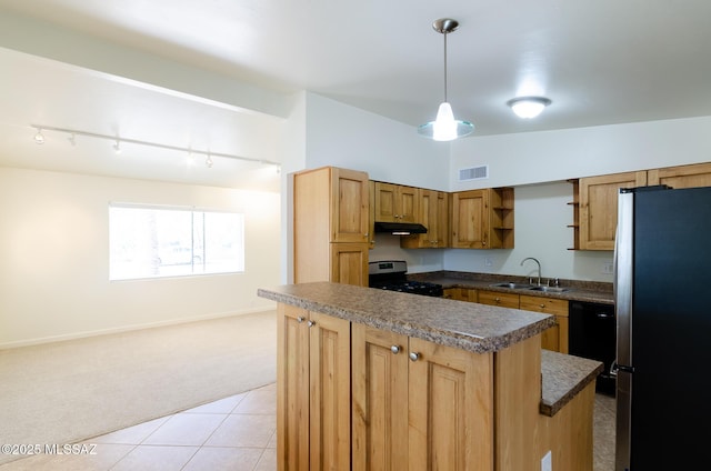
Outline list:
[[[311,470],[351,463],[350,322],[310,312],[309,443]]]

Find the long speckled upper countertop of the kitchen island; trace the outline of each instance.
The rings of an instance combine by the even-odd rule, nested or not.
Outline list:
[[[442,345],[485,353],[554,325],[532,311],[330,282],[259,289],[258,295]]]

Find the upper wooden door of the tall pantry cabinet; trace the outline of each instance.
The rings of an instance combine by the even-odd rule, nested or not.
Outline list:
[[[368,174],[338,168],[331,171],[331,242],[368,242]]]

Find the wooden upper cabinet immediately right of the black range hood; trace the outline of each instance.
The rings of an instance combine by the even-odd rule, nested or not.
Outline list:
[[[403,236],[403,249],[443,249],[449,245],[449,196],[444,191],[419,190],[418,216],[414,222],[427,228],[427,233]]]

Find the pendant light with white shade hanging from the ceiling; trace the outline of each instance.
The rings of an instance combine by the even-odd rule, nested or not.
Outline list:
[[[434,31],[444,36],[444,101],[437,111],[437,119],[418,127],[418,133],[435,141],[451,141],[471,134],[474,124],[454,119],[452,107],[447,100],[447,34],[457,31],[459,22],[451,18],[441,18],[432,23]]]

